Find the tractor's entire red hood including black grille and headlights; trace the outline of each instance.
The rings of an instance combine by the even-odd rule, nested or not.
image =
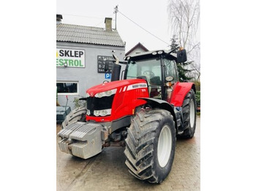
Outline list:
[[[107,82],[86,91],[86,121],[113,122],[132,116],[135,108],[146,104],[138,98],[148,98],[145,79],[125,79]]]

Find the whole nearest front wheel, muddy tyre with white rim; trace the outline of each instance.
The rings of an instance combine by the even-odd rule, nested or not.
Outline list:
[[[173,116],[163,109],[141,110],[127,131],[124,154],[129,173],[150,183],[164,181],[176,148]]]

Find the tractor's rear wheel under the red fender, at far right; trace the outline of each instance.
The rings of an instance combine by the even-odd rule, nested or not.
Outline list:
[[[182,138],[192,139],[195,134],[197,106],[195,101],[195,92],[190,90],[184,98],[182,104],[184,133],[181,134]]]

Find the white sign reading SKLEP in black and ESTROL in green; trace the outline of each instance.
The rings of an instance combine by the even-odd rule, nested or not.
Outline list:
[[[86,66],[85,55],[84,50],[57,48],[56,66],[84,68]]]

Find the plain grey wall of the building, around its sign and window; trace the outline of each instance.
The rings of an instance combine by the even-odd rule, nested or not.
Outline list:
[[[82,44],[73,42],[57,42],[57,48],[63,49],[77,49],[85,50],[85,67],[84,68],[73,68],[73,67],[59,67],[56,68],[56,81],[57,82],[78,82],[78,93],[77,94],[60,94],[58,93],[58,101],[61,106],[65,106],[68,95],[68,106],[74,109],[74,98],[81,98],[86,95],[86,90],[94,85],[102,83],[105,79],[105,74],[98,73],[97,56],[105,55],[112,56],[114,54],[118,56],[119,60],[122,61],[125,55],[125,47],[113,47],[97,44]],[[122,64],[123,65],[123,64]],[[121,71],[125,69],[123,65]]]

